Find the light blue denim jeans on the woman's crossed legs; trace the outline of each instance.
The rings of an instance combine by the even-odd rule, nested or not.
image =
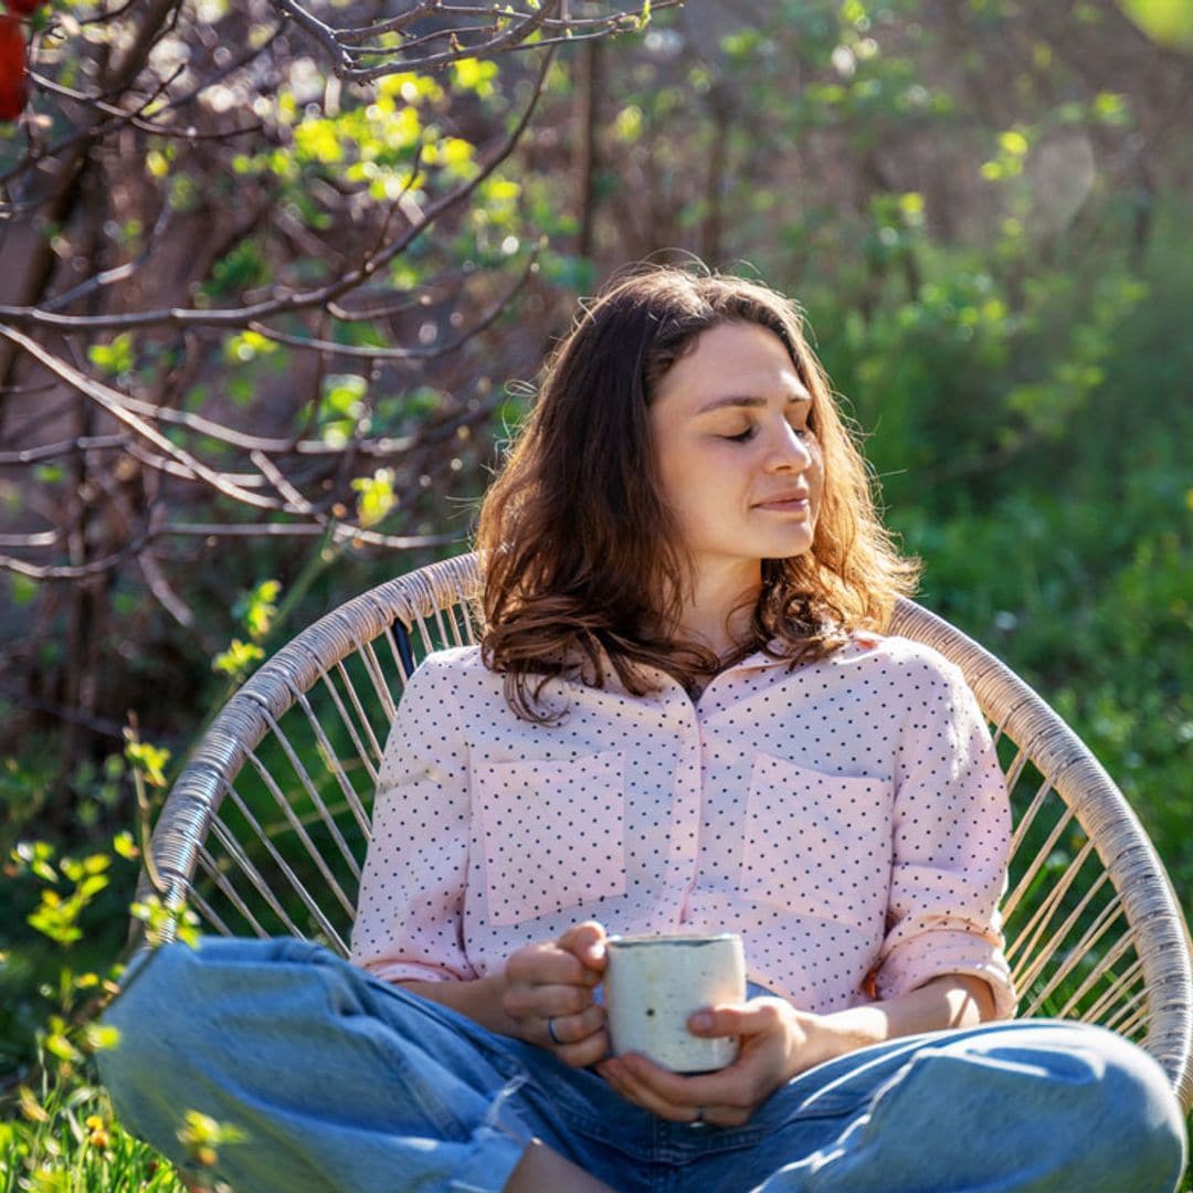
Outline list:
[[[822,1064],[743,1127],[675,1124],[299,940],[204,939],[130,968],[100,1069],[122,1120],[186,1168],[187,1109],[237,1193],[500,1189],[537,1136],[614,1189],[1169,1193],[1160,1067],[1049,1020],[910,1037]]]

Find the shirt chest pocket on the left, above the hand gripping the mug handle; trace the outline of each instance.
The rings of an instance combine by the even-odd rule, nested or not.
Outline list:
[[[625,755],[472,767],[489,919],[509,926],[625,894]]]

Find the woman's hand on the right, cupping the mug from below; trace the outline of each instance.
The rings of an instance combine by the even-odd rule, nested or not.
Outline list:
[[[848,1047],[824,1016],[773,997],[697,1012],[688,1030],[693,1036],[740,1036],[737,1059],[717,1073],[685,1077],[630,1053],[602,1061],[596,1071],[624,1098],[660,1118],[741,1126],[796,1074]]]

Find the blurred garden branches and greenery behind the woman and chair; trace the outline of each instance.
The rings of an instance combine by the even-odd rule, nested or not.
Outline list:
[[[577,296],[647,255],[801,302],[921,600],[1076,728],[1193,905],[1193,6],[514,7],[10,5],[10,1088],[214,709],[466,549]]]

